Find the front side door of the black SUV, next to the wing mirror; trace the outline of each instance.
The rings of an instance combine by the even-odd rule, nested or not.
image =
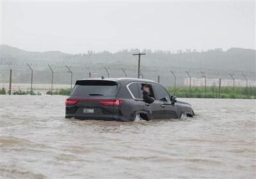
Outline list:
[[[172,104],[170,99],[170,93],[163,87],[153,84],[154,93],[156,95],[156,101],[161,106],[161,116],[163,119],[176,118],[177,107]]]

